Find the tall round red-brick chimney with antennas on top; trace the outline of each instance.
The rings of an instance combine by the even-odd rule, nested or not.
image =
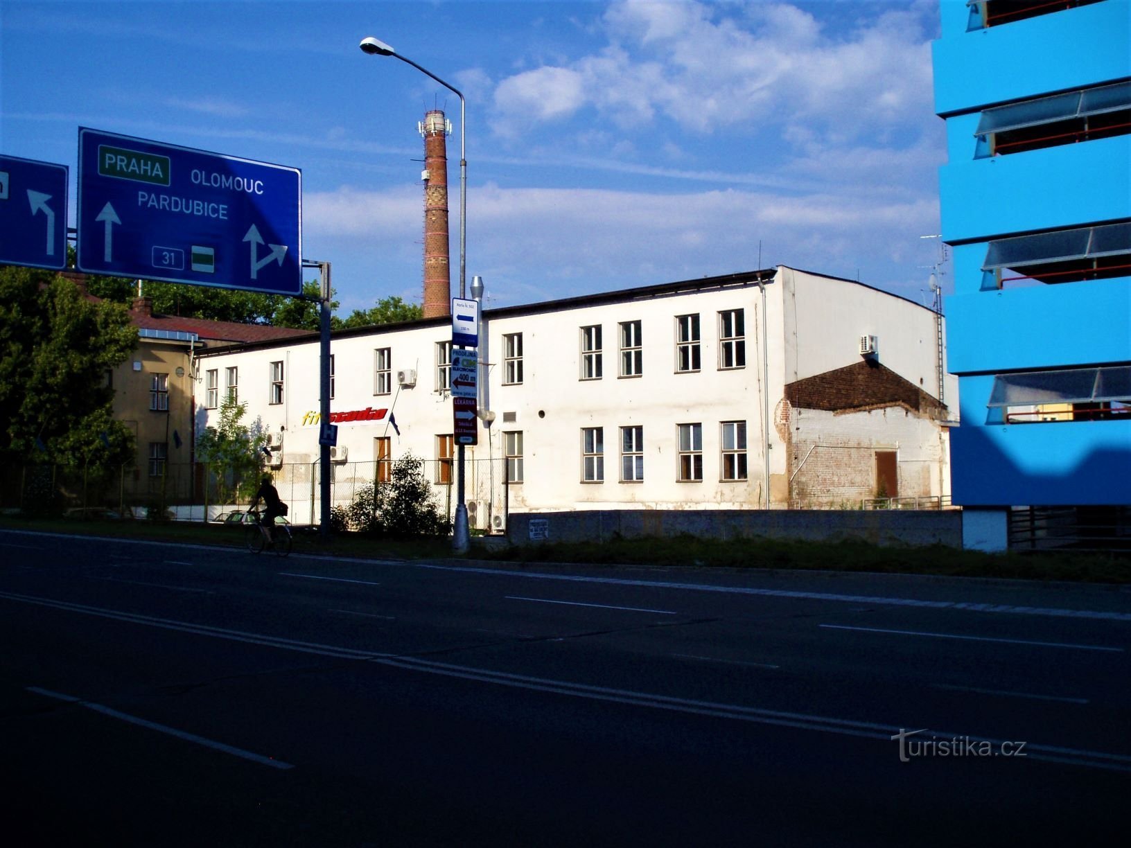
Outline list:
[[[443,112],[424,113],[424,318],[451,314],[448,241],[448,141]]]

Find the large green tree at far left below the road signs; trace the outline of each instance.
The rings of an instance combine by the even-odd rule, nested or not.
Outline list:
[[[106,372],[137,346],[124,308],[50,271],[0,268],[0,453],[78,467],[126,461]]]

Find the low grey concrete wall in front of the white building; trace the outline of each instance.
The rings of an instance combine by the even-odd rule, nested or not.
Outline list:
[[[806,542],[860,539],[875,545],[962,546],[962,513],[852,510],[588,510],[512,514],[508,538],[539,542],[606,542],[614,536],[776,538]]]

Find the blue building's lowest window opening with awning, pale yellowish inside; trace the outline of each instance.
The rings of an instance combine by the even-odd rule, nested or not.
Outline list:
[[[1129,421],[1131,365],[998,374],[986,406],[1005,424]]]

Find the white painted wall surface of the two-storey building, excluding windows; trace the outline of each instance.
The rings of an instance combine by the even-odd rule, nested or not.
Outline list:
[[[787,288],[783,279],[789,282]],[[636,289],[637,293],[640,289]],[[492,502],[502,511],[502,434],[524,435],[524,479],[510,487],[510,508],[521,511],[608,508],[756,508],[763,502],[766,429],[762,421],[762,334],[769,363],[769,412],[775,415],[787,381],[843,367],[860,360],[857,337],[866,331],[881,337],[881,362],[908,380],[924,386],[933,372],[921,343],[933,345],[933,314],[915,304],[845,280],[782,268],[766,285],[766,314],[757,285],[689,288],[647,296],[634,292],[608,302],[598,297],[521,309],[489,311],[482,321],[481,360],[486,374],[485,405],[497,414],[494,424],[480,427],[480,444],[467,449],[467,500]],[[720,370],[718,313],[742,309],[745,317],[745,367]],[[676,372],[676,317],[700,317],[698,372]],[[641,321],[644,373],[619,375],[619,323]],[[603,328],[604,375],[580,379],[580,328]],[[503,384],[503,336],[523,334],[524,379]],[[794,332],[796,334],[794,336]],[[372,462],[374,436],[392,438],[392,457],[406,452],[425,460],[437,457],[435,438],[451,433],[451,400],[437,391],[435,347],[450,338],[448,322],[431,321],[402,328],[373,328],[364,334],[338,334],[335,356],[335,396],[331,412],[392,409],[398,436],[388,416],[378,421],[340,422],[338,444],[353,462]],[[909,347],[904,351],[903,347]],[[389,347],[394,378],[415,369],[415,388],[374,395],[374,349]],[[319,408],[318,343],[278,344],[252,349],[206,352],[198,373],[219,372],[223,390],[228,365],[240,369],[240,399],[249,405],[247,422],[267,431],[285,427],[283,462],[309,464],[318,459]],[[270,363],[286,369],[284,403],[270,405]],[[482,382],[482,378],[481,378]],[[216,410],[199,408],[205,397],[198,386],[198,430],[215,423]],[[484,404],[481,404],[481,408]],[[504,417],[513,417],[507,422]],[[748,479],[722,482],[720,422],[744,421],[748,434]],[[882,429],[882,416],[872,419]],[[703,479],[677,479],[677,425],[702,425]],[[620,429],[644,426],[645,482],[620,481]],[[604,429],[605,479],[581,481],[581,429]],[[778,433],[770,426],[770,473],[775,485],[785,481],[787,457]],[[886,436],[877,433],[877,439]],[[489,460],[494,460],[493,467]],[[354,486],[372,475],[371,466],[338,467],[339,485]],[[292,488],[305,492],[313,476],[299,474]],[[311,490],[312,491],[312,490]],[[285,493],[284,493],[285,494]],[[441,490],[446,497],[447,487]],[[784,499],[783,499],[784,500]],[[483,511],[485,514],[485,509]],[[302,520],[297,516],[293,516]],[[482,521],[482,518],[481,518]]]

